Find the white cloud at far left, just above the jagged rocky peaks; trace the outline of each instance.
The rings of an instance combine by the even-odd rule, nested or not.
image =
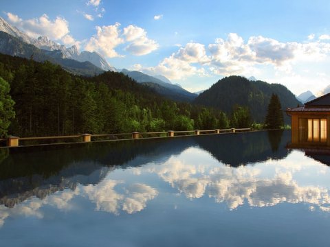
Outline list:
[[[38,19],[28,19],[25,21],[12,13],[7,13],[7,16],[11,23],[32,38],[47,36],[53,40],[60,40],[69,34],[69,23],[60,16],[57,16],[55,20],[50,20],[47,14],[43,14]]]

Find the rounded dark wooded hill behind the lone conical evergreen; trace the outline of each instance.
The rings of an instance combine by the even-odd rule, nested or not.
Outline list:
[[[201,93],[194,102],[223,110],[227,114],[232,112],[232,107],[235,104],[248,106],[252,119],[258,123],[263,123],[272,93],[276,93],[280,98],[283,110],[301,104],[294,94],[281,84],[252,82],[236,75],[222,78],[210,89]],[[284,116],[285,122],[289,123],[289,117],[285,114]]]

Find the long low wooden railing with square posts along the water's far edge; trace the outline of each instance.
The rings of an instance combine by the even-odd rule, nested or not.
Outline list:
[[[118,134],[75,134],[69,136],[57,136],[57,137],[8,137],[6,139],[0,139],[0,142],[6,141],[7,147],[17,147],[21,141],[49,141],[58,139],[78,139],[78,142],[90,142],[92,138],[100,139],[105,138],[107,140],[116,139],[141,139],[141,138],[155,138],[155,137],[178,137],[183,135],[199,135],[199,134],[222,134],[222,133],[235,133],[250,131],[251,128],[229,128],[229,129],[215,129],[215,130],[184,130],[184,131],[161,131],[161,132],[131,132],[131,133],[118,133]],[[119,138],[126,137],[126,138]]]

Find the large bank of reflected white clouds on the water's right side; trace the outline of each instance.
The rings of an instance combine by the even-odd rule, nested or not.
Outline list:
[[[140,169],[158,174],[187,198],[209,196],[216,202],[225,202],[230,209],[236,209],[246,202],[250,207],[270,207],[281,202],[307,202],[322,211],[330,211],[327,206],[330,203],[328,189],[319,185],[301,186],[294,179],[296,173],[308,169],[314,170],[315,176],[327,176],[326,172],[320,173],[315,169],[320,166],[316,161],[301,154],[293,152],[291,158],[282,161],[269,160],[254,167],[233,168],[219,166],[210,157],[207,162],[198,163],[203,158],[194,159],[196,152],[196,148],[190,148],[162,165],[149,164]],[[197,155],[201,156],[200,153]],[[186,163],[188,156],[190,163]]]

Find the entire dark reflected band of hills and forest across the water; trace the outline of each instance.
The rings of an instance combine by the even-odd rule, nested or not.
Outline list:
[[[288,136],[284,132],[278,150],[272,148],[267,132],[12,148],[0,163],[0,204],[13,207],[31,196],[74,189],[78,183],[97,184],[113,167],[164,163],[197,145],[232,166],[283,158]]]

